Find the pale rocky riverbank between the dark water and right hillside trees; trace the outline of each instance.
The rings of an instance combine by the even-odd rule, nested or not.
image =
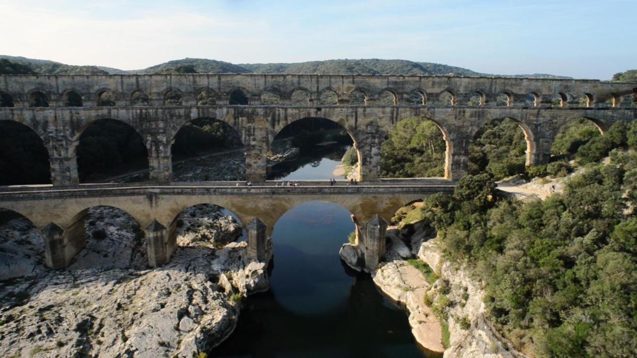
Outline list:
[[[408,310],[416,341],[444,358],[525,358],[487,320],[480,283],[445,261],[435,237],[423,222],[388,227],[385,259],[371,272],[378,289]],[[343,245],[341,258],[360,269],[354,246]]]

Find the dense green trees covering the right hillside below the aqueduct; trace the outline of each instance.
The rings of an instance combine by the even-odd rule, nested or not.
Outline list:
[[[482,174],[414,209],[449,259],[485,283],[490,320],[516,348],[556,358],[637,352],[637,220],[622,198],[633,193],[637,155],[612,157],[546,201],[497,199]]]

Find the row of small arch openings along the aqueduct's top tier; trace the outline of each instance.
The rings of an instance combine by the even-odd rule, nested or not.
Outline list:
[[[298,106],[308,106],[310,104],[320,105],[337,105],[337,104],[354,104],[354,105],[387,105],[395,106],[398,104],[406,104],[410,106],[425,106],[427,105],[427,94],[423,90],[412,90],[410,92],[403,92],[400,96],[397,92],[390,89],[385,89],[379,92],[375,97],[370,98],[366,92],[362,89],[354,89],[348,93],[347,98],[340,98],[335,90],[325,89],[318,94],[317,99],[311,99],[310,91],[306,89],[296,89],[289,96],[289,104]],[[629,96],[627,96],[629,97]],[[209,106],[217,104],[218,96],[217,92],[212,89],[202,89],[197,93],[195,98],[197,106]],[[517,103],[515,103],[517,100]],[[39,108],[48,107],[49,99],[46,94],[40,90],[33,90],[29,93],[27,99],[29,107]],[[268,90],[261,94],[257,99],[248,97],[245,90],[234,89],[230,92],[227,104],[230,105],[247,105],[254,104],[266,104],[266,105],[278,105],[281,104],[282,96],[276,90]],[[189,104],[189,101],[185,101],[182,92],[180,90],[171,89],[164,93],[162,98],[162,105],[164,106],[181,106],[183,104]],[[542,99],[539,94],[531,92],[526,95],[524,99],[518,97],[514,99],[511,92],[502,92],[495,98],[489,99],[484,92],[475,90],[468,95],[461,97],[457,96],[451,90],[447,90],[438,94],[438,104],[443,106],[485,106],[494,102],[496,106],[513,106],[514,104],[522,104],[524,106],[566,106],[567,104],[573,104],[573,101],[569,96],[563,92],[559,92],[550,98]],[[67,90],[62,94],[62,106],[64,107],[82,107],[84,104],[84,97],[75,90]],[[115,94],[111,90],[101,90],[96,96],[96,105],[100,107],[117,106],[117,105],[129,105],[129,106],[150,106],[151,101],[148,94],[142,90],[136,90],[132,92],[129,97],[128,103],[118,103]],[[594,96],[590,93],[584,93],[580,96],[575,106],[580,107],[592,107],[595,105]],[[603,103],[603,106],[630,106],[630,99],[622,98],[619,96],[612,96],[611,99]],[[7,92],[0,92],[0,107],[14,107],[15,103],[13,97]]]

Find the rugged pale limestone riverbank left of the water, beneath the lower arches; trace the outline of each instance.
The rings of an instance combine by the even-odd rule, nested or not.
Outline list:
[[[0,356],[192,357],[236,325],[244,297],[269,287],[241,227],[213,206],[178,218],[171,262],[148,269],[141,229],[113,208],[89,211],[87,247],[66,269],[43,266],[38,231],[0,226]]]

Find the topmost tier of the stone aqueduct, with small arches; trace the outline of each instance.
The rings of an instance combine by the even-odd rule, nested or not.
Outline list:
[[[390,75],[4,75],[0,92],[17,107],[34,106],[164,106],[171,104],[391,104],[446,106],[441,94],[456,105],[540,106],[555,95],[563,106],[587,106],[633,93],[637,83],[554,78],[506,78]],[[240,95],[238,94],[240,91]],[[108,99],[104,99],[108,96]],[[10,99],[11,101],[8,101]],[[613,104],[614,105],[614,104]],[[618,103],[619,105],[619,103]]]

